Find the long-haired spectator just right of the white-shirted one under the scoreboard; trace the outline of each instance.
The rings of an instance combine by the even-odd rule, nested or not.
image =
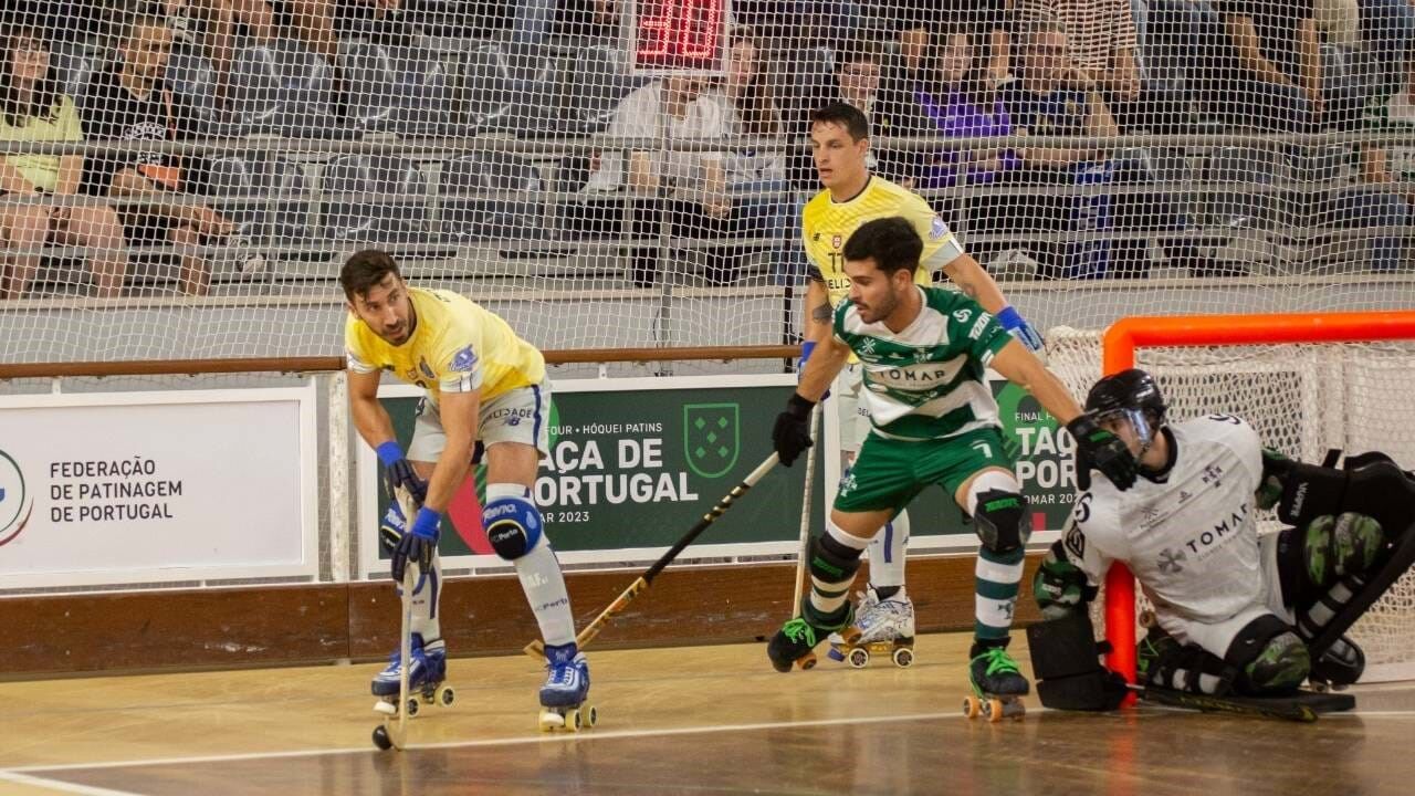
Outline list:
[[[773,76],[761,57],[761,40],[751,28],[739,27],[729,40],[730,62],[722,86],[709,98],[722,105],[723,130],[729,137],[778,137],[782,133],[781,110],[774,96]],[[798,214],[787,186],[785,154],[754,146],[734,147],[723,159],[727,193],[732,201],[729,234],[734,239],[767,238],[780,273],[798,249]],[[739,248],[724,258],[740,265]],[[804,263],[802,263],[804,265]],[[724,275],[730,276],[730,275]]]

